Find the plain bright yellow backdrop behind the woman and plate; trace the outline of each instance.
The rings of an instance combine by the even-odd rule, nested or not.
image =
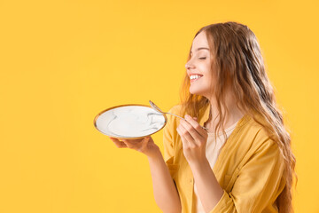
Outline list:
[[[309,0],[1,1],[0,212],[161,212],[146,156],[93,119],[174,106],[193,36],[228,20],[258,37],[292,130],[295,210],[319,212],[318,18]]]

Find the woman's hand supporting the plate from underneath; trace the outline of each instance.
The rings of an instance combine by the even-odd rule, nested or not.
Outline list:
[[[109,137],[115,146],[118,148],[130,148],[134,149],[148,157],[152,157],[157,152],[159,152],[159,146],[157,146],[152,140],[151,136],[140,139],[122,139]]]

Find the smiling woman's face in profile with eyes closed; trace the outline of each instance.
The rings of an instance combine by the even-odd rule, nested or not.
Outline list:
[[[187,75],[191,80],[191,94],[206,98],[211,96],[210,92],[213,86],[211,58],[206,34],[202,31],[194,38],[191,46],[191,59],[185,65]]]

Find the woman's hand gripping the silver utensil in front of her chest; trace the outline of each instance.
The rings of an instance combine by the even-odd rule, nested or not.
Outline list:
[[[206,141],[208,134],[199,123],[190,115],[186,114],[187,122],[180,120],[177,132],[182,138],[183,154],[190,165],[206,161]]]

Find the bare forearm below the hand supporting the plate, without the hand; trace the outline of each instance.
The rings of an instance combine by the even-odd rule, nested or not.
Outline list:
[[[182,211],[181,201],[160,151],[148,157],[155,201],[165,213]]]

